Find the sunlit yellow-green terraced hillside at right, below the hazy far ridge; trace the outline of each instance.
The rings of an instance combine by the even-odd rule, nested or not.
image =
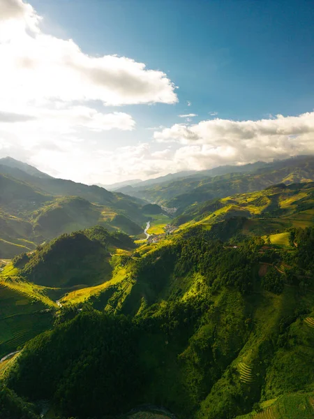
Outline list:
[[[262,191],[237,193],[191,205],[174,219],[173,224],[184,227],[197,223],[211,225],[234,216],[243,216],[251,219],[246,223],[246,231],[262,235],[263,229],[266,234],[274,233],[278,228],[311,226],[314,222],[313,207],[314,182],[278,184]],[[274,223],[272,229],[271,223]]]

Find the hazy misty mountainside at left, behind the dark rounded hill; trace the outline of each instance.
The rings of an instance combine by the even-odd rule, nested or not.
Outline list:
[[[45,177],[28,165],[24,172],[25,163],[11,160],[1,159],[0,165],[0,258],[33,251],[62,233],[95,225],[130,235],[144,230],[144,201]]]

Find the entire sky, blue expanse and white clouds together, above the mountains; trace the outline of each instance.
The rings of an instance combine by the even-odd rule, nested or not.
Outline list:
[[[87,184],[314,153],[310,0],[0,0],[0,157]]]

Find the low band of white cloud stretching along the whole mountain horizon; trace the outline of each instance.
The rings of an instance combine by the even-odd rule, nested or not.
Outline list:
[[[82,118],[78,111],[75,115]],[[33,122],[20,124],[29,126]],[[104,150],[99,142],[91,147],[89,142],[74,135],[71,128],[73,126],[65,124],[62,140],[56,141],[52,135],[45,143],[41,141],[40,147],[37,146],[42,136],[39,130],[36,138],[24,145],[27,162],[54,176],[110,184],[180,170],[203,170],[223,164],[271,161],[314,153],[314,112],[260,121],[215,119],[190,126],[176,124],[155,132],[156,142],[117,147],[112,151]],[[10,136],[4,140],[3,153],[8,154]],[[18,149],[13,156],[18,158],[17,153]]]

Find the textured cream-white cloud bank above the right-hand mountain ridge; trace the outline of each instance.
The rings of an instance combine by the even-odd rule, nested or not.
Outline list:
[[[214,119],[198,124],[174,124],[156,131],[157,142],[177,142],[174,159],[190,168],[211,168],[224,163],[271,161],[314,153],[314,112],[296,117],[232,121]]]

